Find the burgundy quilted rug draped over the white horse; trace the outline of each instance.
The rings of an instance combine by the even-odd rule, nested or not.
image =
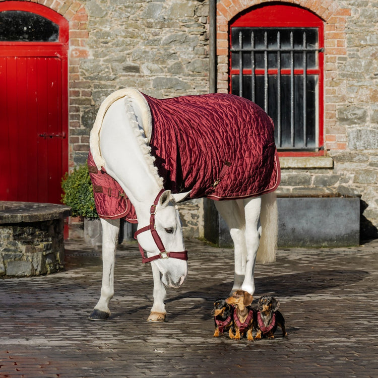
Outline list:
[[[151,154],[166,190],[217,201],[276,190],[274,125],[258,105],[221,93],[162,100],[143,96],[151,112]],[[99,216],[137,222],[129,199],[103,168],[97,169],[91,153],[88,166]]]

